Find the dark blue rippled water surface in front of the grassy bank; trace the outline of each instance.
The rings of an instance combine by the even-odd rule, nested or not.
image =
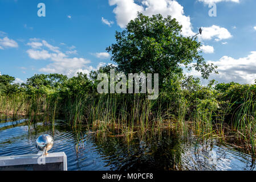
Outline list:
[[[254,170],[250,155],[214,141],[198,144],[177,134],[136,136],[129,144],[121,137],[75,133],[62,121],[54,129],[44,122],[27,125],[26,119],[0,120],[0,156],[37,154],[35,140],[50,134],[54,147],[50,152],[65,152],[68,170]]]

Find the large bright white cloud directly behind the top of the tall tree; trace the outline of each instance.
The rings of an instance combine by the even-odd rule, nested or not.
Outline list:
[[[174,0],[143,0],[141,5],[138,5],[133,0],[109,0],[109,5],[116,5],[113,13],[116,14],[117,24],[121,28],[125,28],[130,20],[135,19],[137,11],[148,16],[153,14],[162,14],[164,17],[172,15],[177,21],[182,24],[182,35],[192,36],[192,24],[190,17],[184,15],[184,8]]]

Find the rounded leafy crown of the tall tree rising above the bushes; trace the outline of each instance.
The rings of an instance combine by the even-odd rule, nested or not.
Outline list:
[[[198,49],[201,43],[181,35],[182,26],[171,16],[152,17],[138,13],[123,32],[116,32],[116,43],[106,50],[124,73],[159,73],[160,88],[168,88],[183,68],[194,67],[208,78],[216,67],[206,64]]]

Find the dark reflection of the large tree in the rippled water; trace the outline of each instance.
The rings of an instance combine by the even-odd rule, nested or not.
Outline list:
[[[122,138],[91,137],[97,151],[108,161],[112,170],[136,169],[168,170],[180,160],[180,141],[175,135],[162,134],[152,138],[150,134],[135,138],[127,144]],[[176,162],[174,162],[176,161]]]

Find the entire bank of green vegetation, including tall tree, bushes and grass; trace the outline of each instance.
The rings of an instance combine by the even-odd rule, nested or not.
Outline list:
[[[11,111],[13,117],[26,113],[29,118],[46,115],[54,126],[55,114],[60,115],[74,129],[92,125],[97,130],[132,135],[138,130],[156,130],[177,127],[188,130],[192,123],[194,133],[224,133],[224,122],[256,149],[256,84],[201,85],[200,79],[186,77],[183,68],[194,67],[203,78],[215,71],[199,54],[201,43],[181,35],[181,26],[171,16],[151,18],[138,14],[123,32],[116,32],[116,43],[107,48],[117,68],[107,65],[98,71],[68,78],[61,74],[40,74],[22,85],[15,78],[0,75],[0,112]],[[192,65],[192,66],[191,66]],[[99,73],[111,69],[124,73],[159,73],[160,96],[147,100],[145,94],[98,94]],[[136,127],[139,126],[139,129]],[[150,129],[150,127],[152,127]],[[216,128],[214,128],[216,127]],[[241,139],[241,138],[239,138]]]

